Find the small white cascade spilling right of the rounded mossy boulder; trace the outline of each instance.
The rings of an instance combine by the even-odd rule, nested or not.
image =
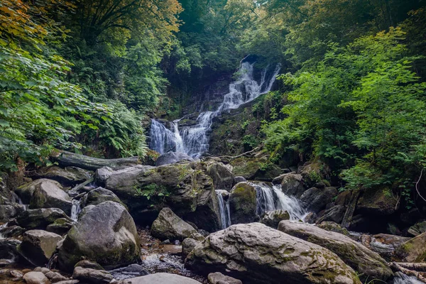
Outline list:
[[[251,185],[256,188],[256,214],[259,216],[267,211],[282,209],[290,214],[290,220],[305,219],[307,212],[302,207],[302,203],[295,197],[285,195],[281,185],[270,186],[265,182],[251,182]]]

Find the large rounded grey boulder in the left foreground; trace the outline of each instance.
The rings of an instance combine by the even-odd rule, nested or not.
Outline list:
[[[72,271],[84,258],[107,268],[136,261],[139,255],[138,234],[129,212],[107,201],[82,212],[59,249],[58,263]]]

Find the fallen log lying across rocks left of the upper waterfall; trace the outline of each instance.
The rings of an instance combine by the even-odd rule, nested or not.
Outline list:
[[[138,165],[139,163],[138,157],[100,159],[67,151],[54,151],[52,154],[50,154],[50,158],[52,158],[62,167],[72,165],[78,168],[84,168],[86,170],[97,170],[105,166],[108,166],[113,170],[122,170],[124,168],[129,168]]]

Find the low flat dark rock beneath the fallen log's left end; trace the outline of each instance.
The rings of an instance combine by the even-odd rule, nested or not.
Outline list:
[[[30,176],[31,178],[48,178],[49,180],[56,180],[62,185],[72,186],[89,180],[92,172],[83,170],[77,167],[60,168],[53,165],[47,168],[35,170]]]

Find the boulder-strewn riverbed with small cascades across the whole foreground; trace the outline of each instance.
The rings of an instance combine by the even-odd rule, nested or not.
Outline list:
[[[425,280],[422,223],[405,236],[354,233],[390,205],[313,179],[317,165],[264,168],[261,153],[114,169],[91,159],[66,153],[20,181],[3,175],[1,283]]]

